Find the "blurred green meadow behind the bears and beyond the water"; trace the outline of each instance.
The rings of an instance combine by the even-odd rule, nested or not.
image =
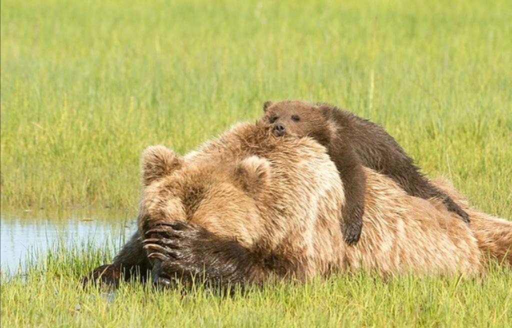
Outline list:
[[[135,210],[147,145],[299,98],[383,124],[509,217],[510,22],[507,1],[2,1],[2,206]]]

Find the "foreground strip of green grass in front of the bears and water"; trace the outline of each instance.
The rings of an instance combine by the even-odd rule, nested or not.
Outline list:
[[[104,257],[103,254],[108,254]],[[27,263],[26,275],[2,276],[2,326],[450,326],[512,325],[512,271],[493,266],[484,277],[382,280],[370,273],[335,275],[304,285],[279,282],[222,297],[197,287],[155,291],[122,283],[119,290],[82,289],[79,279],[109,261],[103,248],[56,244]]]

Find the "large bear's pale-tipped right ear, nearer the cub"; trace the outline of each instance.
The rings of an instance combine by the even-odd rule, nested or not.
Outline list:
[[[238,164],[234,176],[242,189],[258,194],[270,184],[270,162],[258,156],[250,156]]]

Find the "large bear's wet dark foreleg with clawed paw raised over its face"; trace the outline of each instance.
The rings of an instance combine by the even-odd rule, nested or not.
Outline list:
[[[173,286],[173,280],[214,287],[261,283],[270,275],[283,277],[293,271],[289,260],[264,258],[194,224],[162,223],[145,235],[149,238],[144,248],[155,261],[153,282],[164,287]]]

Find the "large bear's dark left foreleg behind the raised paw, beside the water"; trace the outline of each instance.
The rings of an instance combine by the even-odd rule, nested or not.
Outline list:
[[[82,285],[86,286],[89,282],[100,282],[117,287],[120,279],[130,280],[132,278],[139,278],[144,282],[151,265],[142,246],[140,234],[136,232],[114,258],[113,264],[102,265],[94,269],[82,278]]]

